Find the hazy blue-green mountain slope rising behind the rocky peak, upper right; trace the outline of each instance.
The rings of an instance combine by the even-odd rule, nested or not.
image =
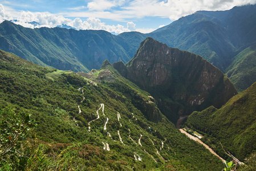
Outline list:
[[[227,11],[197,11],[149,36],[203,56],[224,71],[238,52],[255,43],[256,5]]]

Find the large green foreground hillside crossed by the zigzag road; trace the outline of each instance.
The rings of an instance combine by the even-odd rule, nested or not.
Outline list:
[[[23,148],[17,149],[23,153],[15,161],[18,170],[224,168],[221,160],[204,146],[182,135],[161,114],[148,92],[123,78],[111,66],[100,71],[107,70],[115,81],[101,82],[94,78],[95,86],[74,72],[56,74],[55,69],[1,51],[1,108],[5,110],[11,105],[15,113],[30,113],[38,124],[27,140],[19,140]],[[99,119],[94,120],[97,112]],[[104,149],[106,144],[110,150]],[[135,156],[142,158],[141,161]],[[15,164],[10,158],[2,168],[13,170]]]

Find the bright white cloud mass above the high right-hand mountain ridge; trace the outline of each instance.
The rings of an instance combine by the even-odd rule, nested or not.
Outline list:
[[[135,18],[162,17],[174,21],[198,10],[229,10],[234,6],[255,2],[255,0],[135,0],[128,6],[123,6],[123,11],[115,11],[115,13],[124,17],[127,15]]]

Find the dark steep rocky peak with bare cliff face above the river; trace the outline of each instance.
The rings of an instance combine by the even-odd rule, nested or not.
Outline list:
[[[237,94],[230,80],[201,56],[152,38],[141,42],[134,58],[127,63],[125,75],[150,92],[160,110],[174,123],[179,116],[210,105],[220,108]]]

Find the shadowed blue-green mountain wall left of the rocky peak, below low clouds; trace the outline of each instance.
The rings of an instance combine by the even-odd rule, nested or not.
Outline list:
[[[88,72],[100,68],[105,59],[111,62],[130,59],[120,46],[121,40],[103,30],[31,29],[5,21],[0,25],[0,39],[0,49],[61,70]]]

